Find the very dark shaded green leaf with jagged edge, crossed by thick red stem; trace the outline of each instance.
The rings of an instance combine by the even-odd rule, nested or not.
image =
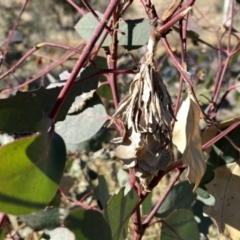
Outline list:
[[[92,65],[85,68],[80,75],[80,80],[94,74],[96,68]],[[98,76],[87,81],[77,81],[61,107],[56,121],[63,121],[68,113],[75,97],[97,88]],[[0,131],[13,132],[36,132],[35,124],[47,117],[61,91],[62,87],[38,90],[29,92],[17,92],[15,96],[7,99],[0,99]]]

